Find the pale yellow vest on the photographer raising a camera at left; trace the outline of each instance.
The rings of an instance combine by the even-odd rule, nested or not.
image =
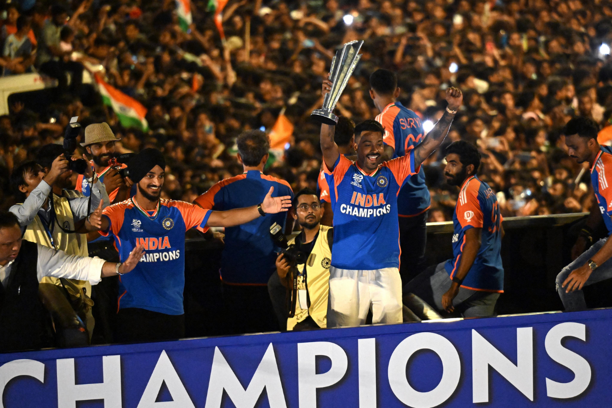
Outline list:
[[[64,190],[62,196],[53,194],[53,212],[51,217],[53,218],[54,225],[47,226],[40,220],[37,214],[34,220],[28,225],[26,231],[23,234],[23,239],[35,243],[40,243],[45,247],[54,248],[56,250],[64,251],[69,255],[77,256],[88,256],[87,250],[87,235],[76,234],[73,231],[75,229],[74,215],[70,208],[69,198],[80,198],[83,197],[78,191]],[[62,228],[59,228],[62,226]],[[51,236],[53,237],[53,243],[51,243]],[[91,314],[91,307],[94,305],[91,296],[91,283],[89,281],[81,281],[76,279],[59,279],[45,276],[42,278],[40,283],[51,283],[57,286],[63,286],[68,292],[70,297],[70,303],[72,308],[81,317],[81,320],[86,324],[89,331],[89,337],[94,330],[94,317]]]

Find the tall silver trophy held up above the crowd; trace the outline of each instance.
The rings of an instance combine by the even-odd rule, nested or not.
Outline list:
[[[336,51],[336,55],[332,59],[332,67],[329,70],[331,73],[329,80],[332,81],[332,89],[325,94],[323,107],[315,109],[310,114],[317,121],[330,126],[337,124],[338,117],[334,114],[334,108],[346,84],[348,84],[349,78],[353,75],[357,62],[361,58],[357,53],[359,53],[362,45],[364,45],[363,41],[351,41],[346,43],[341,50]]]

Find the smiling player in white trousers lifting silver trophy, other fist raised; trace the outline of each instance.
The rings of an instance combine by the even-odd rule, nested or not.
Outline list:
[[[383,125],[367,120],[355,127],[357,160],[348,160],[334,142],[332,113],[359,61],[362,41],[346,43],[332,61],[323,83],[323,108],[312,113],[321,125],[324,174],[334,210],[334,247],[329,279],[327,327],[402,321],[397,195],[408,177],[442,143],[461,106],[455,87],[446,91],[448,106],[427,136],[409,154],[383,161]]]

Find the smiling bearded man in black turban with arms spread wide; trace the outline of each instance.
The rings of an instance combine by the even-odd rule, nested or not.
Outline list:
[[[86,227],[113,234],[120,259],[136,245],[147,251],[136,269],[120,276],[116,341],[160,341],[185,334],[185,232],[196,227],[231,227],[291,207],[291,196],[272,198],[271,187],[257,206],[227,211],[205,210],[182,201],[160,199],[166,161],[157,149],[144,149],[127,166],[136,195],[89,217]],[[245,317],[247,318],[247,317]]]

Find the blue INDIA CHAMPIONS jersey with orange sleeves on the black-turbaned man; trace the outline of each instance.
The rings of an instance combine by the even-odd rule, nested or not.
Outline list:
[[[185,231],[206,231],[211,211],[183,201],[162,199],[154,212],[142,210],[135,199],[104,209],[119,258],[124,262],[138,244],[145,254],[132,272],[119,276],[118,309],[141,308],[183,314]]]

